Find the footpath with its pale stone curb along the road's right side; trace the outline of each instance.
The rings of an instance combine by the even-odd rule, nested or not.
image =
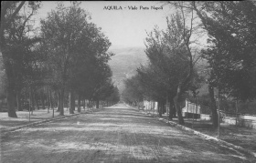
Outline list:
[[[153,111],[149,112],[148,110],[140,110],[140,112],[151,117],[156,117],[172,126],[194,132],[201,137],[214,139],[232,148],[240,148],[256,157],[256,129],[236,127],[227,123],[221,123],[218,131],[218,128],[211,126],[210,121],[200,119],[197,119],[196,121],[194,119],[193,122],[193,119],[191,118],[184,118],[185,125],[181,126],[178,125],[177,118],[173,118],[173,120],[169,121],[166,114],[160,118],[158,114]]]

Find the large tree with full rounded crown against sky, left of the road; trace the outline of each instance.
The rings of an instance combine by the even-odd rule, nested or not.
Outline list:
[[[48,66],[52,69],[55,86],[59,86],[60,115],[63,115],[65,90],[73,91],[75,88],[70,87],[72,80],[79,80],[80,74],[83,73],[84,76],[92,74],[93,71],[87,70],[89,66],[97,69],[107,63],[112,56],[107,53],[111,43],[101,33],[101,28],[88,23],[90,15],[79,5],[80,3],[72,2],[69,7],[65,7],[59,3],[57,11],[52,11],[46,20],[41,21],[42,36],[45,38],[44,44],[48,53]],[[82,66],[89,62],[93,64]],[[78,69],[79,66],[84,70]],[[80,71],[75,73],[76,70]],[[83,85],[87,83],[91,82]],[[69,108],[70,113],[73,113],[72,110],[73,108]]]

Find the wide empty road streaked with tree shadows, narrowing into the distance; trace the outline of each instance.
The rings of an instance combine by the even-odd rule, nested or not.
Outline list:
[[[1,136],[1,162],[254,162],[123,104]]]

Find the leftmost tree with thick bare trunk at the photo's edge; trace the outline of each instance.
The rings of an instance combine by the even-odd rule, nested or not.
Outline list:
[[[21,14],[19,11],[23,6],[27,6],[30,9],[30,14],[27,16],[26,13]],[[8,106],[8,116],[16,117],[15,110],[15,88],[16,88],[16,72],[14,68],[14,63],[16,57],[13,56],[13,49],[17,49],[24,44],[27,46],[29,41],[22,40],[27,30],[30,30],[29,25],[27,26],[28,20],[32,15],[35,14],[37,8],[39,7],[38,3],[25,1],[21,2],[1,2],[1,53],[3,56],[3,61],[5,65],[5,74],[7,79],[7,106]],[[16,40],[16,39],[19,40]],[[27,38],[27,37],[25,37]],[[15,44],[14,44],[15,43]]]

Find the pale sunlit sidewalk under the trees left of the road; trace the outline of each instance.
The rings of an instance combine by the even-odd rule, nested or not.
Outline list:
[[[93,108],[93,111],[96,111],[98,109]],[[90,113],[91,108],[81,108],[81,114],[82,113]],[[79,114],[79,112],[74,110],[75,114]],[[7,112],[0,112],[0,132],[1,130],[5,130],[6,128],[11,127],[19,127],[24,126],[28,124],[32,124],[35,122],[40,122],[44,120],[50,120],[55,119],[63,116],[59,116],[59,112],[57,112],[57,108],[54,109],[54,118],[53,118],[53,109],[50,109],[48,112],[48,109],[39,109],[34,110],[33,115],[30,112],[30,121],[29,121],[29,112],[27,110],[24,111],[16,111],[16,117],[8,117]],[[73,114],[69,114],[69,109],[64,108],[64,117],[65,116],[71,116]]]

